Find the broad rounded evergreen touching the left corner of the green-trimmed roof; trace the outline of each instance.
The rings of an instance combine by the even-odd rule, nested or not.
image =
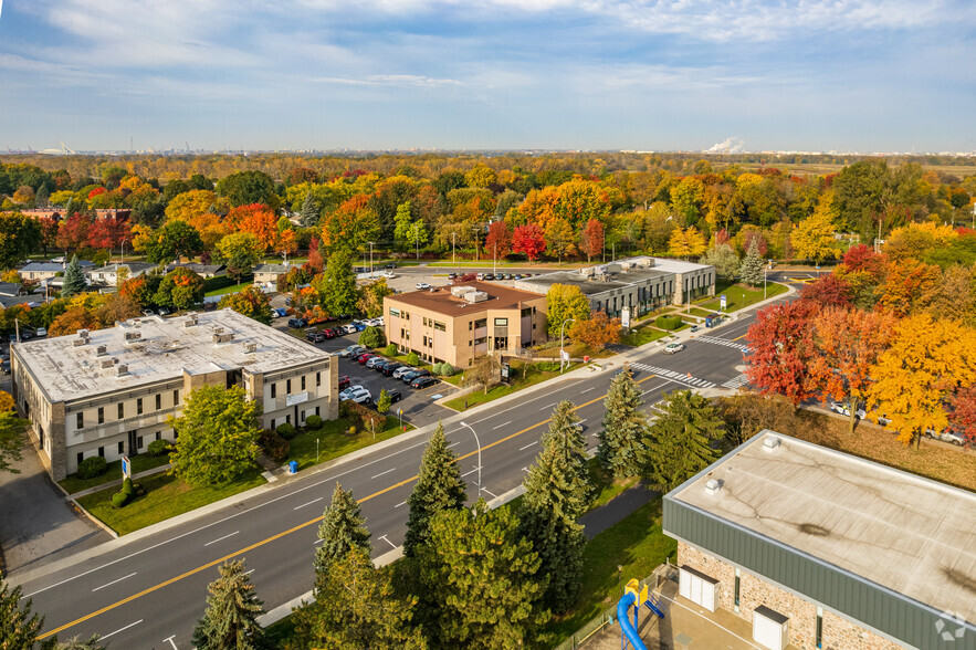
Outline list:
[[[707,398],[691,390],[665,394],[661,411],[651,423],[644,475],[663,493],[718,458],[711,443],[721,436],[722,420]]]

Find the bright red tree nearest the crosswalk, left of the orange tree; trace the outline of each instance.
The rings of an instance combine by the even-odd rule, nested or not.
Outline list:
[[[810,363],[816,354],[806,301],[766,307],[746,333],[746,377],[763,395],[781,394],[794,403],[812,397]]]

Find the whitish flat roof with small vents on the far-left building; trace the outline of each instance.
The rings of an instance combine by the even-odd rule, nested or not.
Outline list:
[[[197,325],[187,326],[196,316]],[[233,334],[227,343],[214,343],[216,329]],[[138,332],[134,343],[125,334]],[[328,354],[294,336],[238,314],[233,310],[203,312],[172,318],[148,316],[88,333],[90,342],[75,346],[76,334],[13,344],[15,354],[30,368],[52,402],[92,398],[105,392],[190,375],[245,368],[263,374],[290,366],[318,361]],[[256,344],[254,353],[246,344]],[[106,356],[96,348],[106,346]],[[114,364],[103,368],[102,363]],[[118,365],[128,374],[118,377]]]

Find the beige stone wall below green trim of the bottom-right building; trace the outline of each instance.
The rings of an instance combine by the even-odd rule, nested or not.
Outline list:
[[[712,555],[678,543],[678,565],[688,565],[716,580],[718,606],[752,622],[753,610],[760,605],[789,618],[789,642],[801,650],[817,650],[817,605],[741,570],[739,608],[735,611],[735,567]],[[895,650],[902,646],[879,637],[830,611],[823,611],[821,628],[823,650]]]

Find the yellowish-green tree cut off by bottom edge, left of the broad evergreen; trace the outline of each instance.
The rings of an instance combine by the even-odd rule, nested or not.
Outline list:
[[[315,596],[314,604],[293,615],[302,648],[426,648],[420,630],[411,626],[417,597],[398,594],[389,569],[375,568],[360,548],[329,565]]]

